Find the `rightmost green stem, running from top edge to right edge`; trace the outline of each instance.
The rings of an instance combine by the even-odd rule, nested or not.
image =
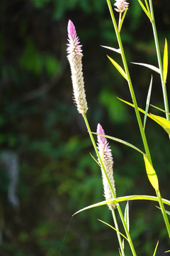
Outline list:
[[[163,91],[163,97],[164,97],[164,107],[166,112],[169,112],[169,102],[168,102],[168,97],[167,97],[167,92],[166,92],[166,82],[164,82],[163,78],[163,68],[162,68],[162,58],[161,58],[161,53],[159,50],[159,41],[158,41],[158,36],[157,36],[157,28],[154,20],[154,10],[153,10],[153,5],[152,5],[152,0],[149,0],[149,6],[150,6],[150,12],[152,16],[152,29],[154,33],[154,42],[157,50],[157,59],[159,63],[159,70],[160,70],[160,76],[161,76],[161,82],[162,82],[162,91]],[[166,119],[170,120],[169,114],[166,113]]]

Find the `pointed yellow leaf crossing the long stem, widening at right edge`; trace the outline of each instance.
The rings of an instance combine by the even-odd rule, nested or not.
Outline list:
[[[118,100],[121,100],[117,97]],[[127,102],[125,100],[121,100],[122,102],[125,102],[126,104],[130,105],[131,107],[134,107],[134,105],[130,102]],[[145,110],[142,110],[140,107],[138,107],[138,110],[145,114]],[[155,114],[147,114],[147,117],[154,120],[154,122],[157,122],[157,124],[161,125],[162,128],[170,135],[170,121],[165,119],[164,117],[159,117]]]

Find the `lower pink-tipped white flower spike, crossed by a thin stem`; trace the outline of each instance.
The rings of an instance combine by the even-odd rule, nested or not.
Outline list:
[[[105,134],[103,128],[101,127],[101,124],[98,124],[97,126],[97,133],[98,134]],[[101,160],[103,161],[103,165],[106,169],[106,173],[108,174],[108,178],[111,182],[111,186],[113,187],[113,191],[115,192],[115,181],[113,178],[113,156],[111,154],[111,149],[110,146],[108,146],[108,141],[106,139],[106,137],[97,136],[98,139],[98,153],[101,156]],[[99,159],[98,162],[100,163]],[[104,196],[107,199],[113,199],[113,193],[111,191],[110,186],[108,185],[108,181],[106,178],[106,175],[104,174],[103,169],[101,168],[101,174],[102,174],[102,178],[103,178],[103,189],[104,189]],[[115,204],[114,203],[108,203],[108,207],[110,209],[115,208]]]

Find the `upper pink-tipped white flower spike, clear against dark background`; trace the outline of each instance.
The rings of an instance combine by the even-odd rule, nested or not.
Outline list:
[[[88,110],[86,102],[86,94],[84,90],[84,77],[82,72],[82,62],[81,59],[83,54],[81,53],[81,45],[79,44],[79,37],[77,36],[76,29],[72,21],[68,22],[68,41],[67,44],[67,58],[69,60],[69,65],[72,73],[72,85],[74,101],[77,105],[77,110],[80,114],[86,114]]]

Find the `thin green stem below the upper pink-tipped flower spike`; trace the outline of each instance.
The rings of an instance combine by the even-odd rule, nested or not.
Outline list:
[[[95,142],[95,140],[94,140],[93,134],[91,133],[91,129],[90,129],[90,126],[89,126],[89,122],[88,122],[88,120],[87,120],[87,118],[86,118],[86,114],[84,114],[83,117],[84,117],[84,122],[85,122],[86,127],[87,127],[88,132],[89,132],[89,136],[90,136],[90,138],[91,138],[91,142],[92,142],[92,144],[94,145],[94,149],[95,149],[96,154],[97,154],[97,156],[98,156],[98,159],[99,159],[99,161],[100,161],[101,167],[102,167],[102,169],[103,169],[103,171],[104,171],[104,174],[105,174],[105,176],[106,176],[106,178],[107,178],[108,184],[109,184],[109,186],[110,186],[110,188],[111,188],[111,191],[112,191],[112,193],[113,193],[113,197],[116,198],[116,196],[115,196],[115,191],[113,190],[113,187],[111,186],[111,181],[110,181],[109,178],[108,178],[108,174],[106,173],[105,166],[103,165],[103,162],[101,161],[101,156],[100,156],[100,154],[98,153],[98,149],[97,149],[97,146],[96,146],[96,142]],[[120,219],[121,219],[121,221],[122,221],[122,223],[123,223],[123,227],[124,227],[124,229],[125,229],[125,233],[126,233],[126,235],[127,235],[128,242],[129,242],[129,244],[130,244],[130,248],[131,248],[131,250],[132,250],[132,255],[133,255],[133,256],[137,256],[137,255],[136,255],[136,252],[135,252],[135,248],[134,248],[133,243],[132,243],[132,239],[131,239],[131,237],[130,237],[130,233],[129,233],[128,228],[127,228],[127,225],[126,225],[126,223],[125,223],[125,219],[124,219],[124,217],[123,217],[122,210],[121,210],[121,208],[120,208],[120,206],[119,206],[119,203],[116,203],[116,206],[117,206],[117,208],[118,208],[118,213],[119,213]],[[116,223],[117,223],[117,222],[116,222]],[[117,225],[117,224],[115,224],[115,225]],[[119,233],[117,233],[117,234],[118,234],[118,236],[120,236]],[[118,238],[118,239],[121,240],[121,238]],[[120,248],[121,248],[121,245],[122,245],[122,242],[120,243]]]

